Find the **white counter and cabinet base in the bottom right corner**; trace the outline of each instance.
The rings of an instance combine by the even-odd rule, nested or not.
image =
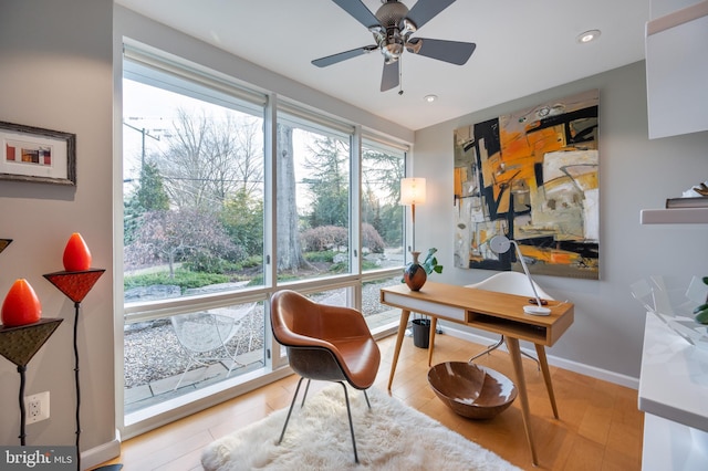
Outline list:
[[[644,471],[708,470],[708,350],[647,314],[639,376]]]

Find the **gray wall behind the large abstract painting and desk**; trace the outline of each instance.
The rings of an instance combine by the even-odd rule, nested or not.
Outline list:
[[[614,379],[625,384],[622,376],[639,375],[644,333],[644,312],[629,285],[652,274],[708,275],[708,224],[639,224],[641,209],[662,208],[667,197],[708,179],[708,133],[648,140],[645,84],[638,62],[418,130],[415,140],[414,174],[428,179],[428,202],[416,208],[417,247],[440,250],[440,281],[476,282],[493,272],[452,262],[452,130],[600,90],[601,280],[535,279],[554,297],[575,303],[575,323],[549,355],[618,375]]]

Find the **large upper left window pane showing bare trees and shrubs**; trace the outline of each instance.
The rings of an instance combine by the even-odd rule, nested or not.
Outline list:
[[[132,70],[143,74],[123,82],[125,301],[262,283],[262,107]]]

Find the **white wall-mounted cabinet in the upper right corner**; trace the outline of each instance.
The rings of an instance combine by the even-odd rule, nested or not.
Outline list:
[[[708,0],[646,24],[649,138],[708,130]]]

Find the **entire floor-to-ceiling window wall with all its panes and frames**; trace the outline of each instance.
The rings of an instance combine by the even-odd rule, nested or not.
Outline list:
[[[375,333],[397,322],[378,290],[400,282],[406,149],[272,102],[127,48],[125,437],[154,411],[275,375],[277,290],[357,307]]]

